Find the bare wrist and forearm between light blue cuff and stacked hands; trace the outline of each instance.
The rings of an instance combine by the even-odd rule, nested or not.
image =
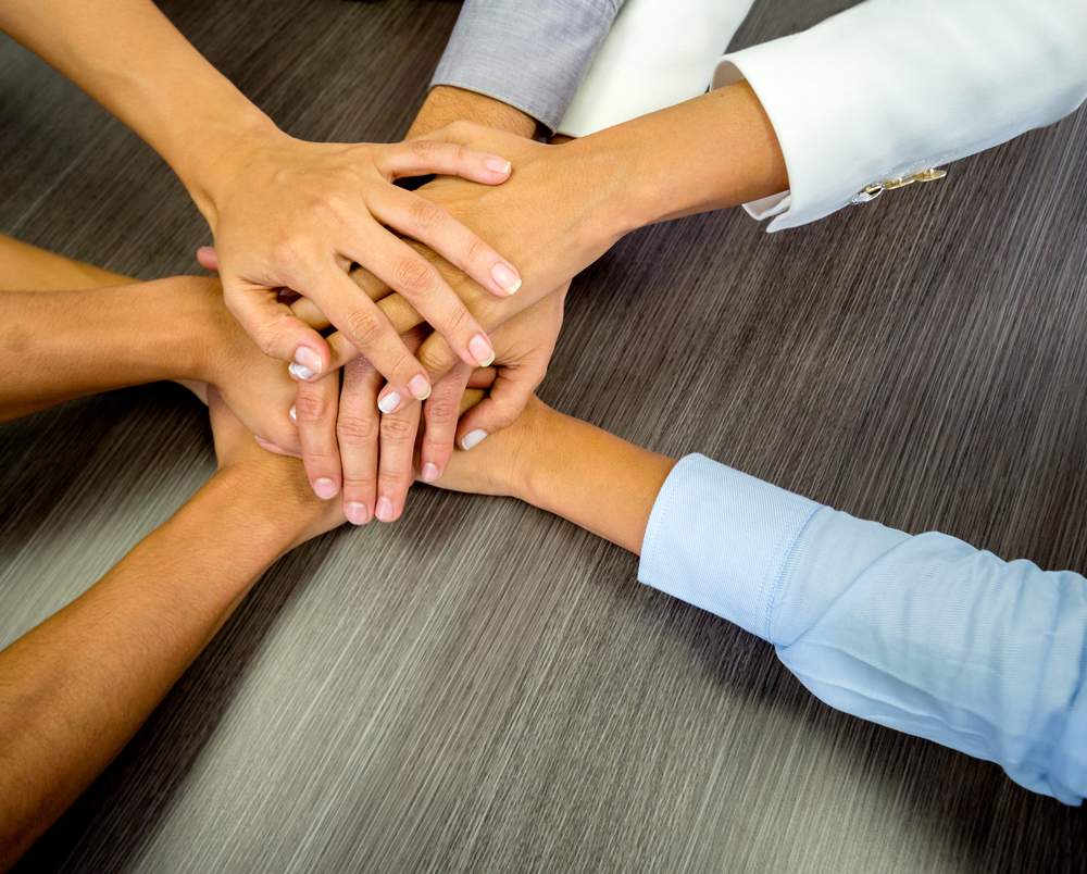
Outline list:
[[[526,413],[517,425],[527,442],[514,460],[514,495],[640,554],[676,462],[542,405]]]

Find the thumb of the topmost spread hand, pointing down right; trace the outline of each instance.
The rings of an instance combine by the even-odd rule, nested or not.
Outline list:
[[[295,378],[314,379],[328,372],[328,345],[275,290],[224,277],[223,297],[264,354],[291,362],[288,370]]]

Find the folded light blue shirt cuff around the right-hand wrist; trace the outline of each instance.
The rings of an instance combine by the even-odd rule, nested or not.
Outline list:
[[[638,579],[769,640],[782,571],[821,507],[687,455],[653,504]]]

